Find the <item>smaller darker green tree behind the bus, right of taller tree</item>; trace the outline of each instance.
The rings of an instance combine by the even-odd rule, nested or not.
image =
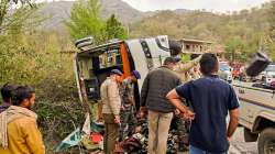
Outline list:
[[[106,22],[106,33],[108,40],[127,38],[127,32],[114,14],[112,14]]]

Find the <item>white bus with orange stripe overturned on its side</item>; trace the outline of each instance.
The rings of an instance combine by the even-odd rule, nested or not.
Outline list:
[[[75,45],[80,50],[75,57],[76,78],[80,99],[86,102],[100,100],[100,85],[114,68],[122,70],[123,77],[130,76],[134,69],[140,72],[141,79],[134,85],[134,98],[139,102],[146,74],[160,67],[166,57],[178,54],[174,51],[182,51],[180,43],[169,41],[166,35],[113,40],[99,46],[92,46],[92,37],[86,37]],[[139,109],[139,103],[136,106]]]

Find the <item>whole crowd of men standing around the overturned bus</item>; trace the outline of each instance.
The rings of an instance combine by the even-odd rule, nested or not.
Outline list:
[[[148,154],[166,153],[172,121],[177,125],[179,151],[188,147],[190,154],[226,154],[239,122],[239,100],[233,88],[219,79],[218,70],[215,54],[206,53],[188,63],[167,57],[163,66],[148,72],[141,100],[135,102],[134,85],[141,79],[140,73],[133,70],[123,78],[121,70],[112,69],[100,86],[103,153],[112,154],[118,142],[138,131],[139,116],[147,119]],[[31,111],[34,89],[7,84],[1,95],[0,153],[44,154],[37,116]]]

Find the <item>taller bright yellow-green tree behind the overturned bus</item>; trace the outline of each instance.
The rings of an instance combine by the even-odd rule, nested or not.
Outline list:
[[[100,18],[98,0],[75,2],[70,10],[70,21],[66,25],[73,40],[92,35],[96,44],[105,42],[105,22]]]

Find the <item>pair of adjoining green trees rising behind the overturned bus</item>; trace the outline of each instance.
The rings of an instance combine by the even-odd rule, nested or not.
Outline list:
[[[95,44],[105,43],[111,38],[125,38],[122,24],[112,14],[107,21],[100,18],[98,0],[76,1],[70,11],[70,21],[66,22],[73,40],[92,35]]]

